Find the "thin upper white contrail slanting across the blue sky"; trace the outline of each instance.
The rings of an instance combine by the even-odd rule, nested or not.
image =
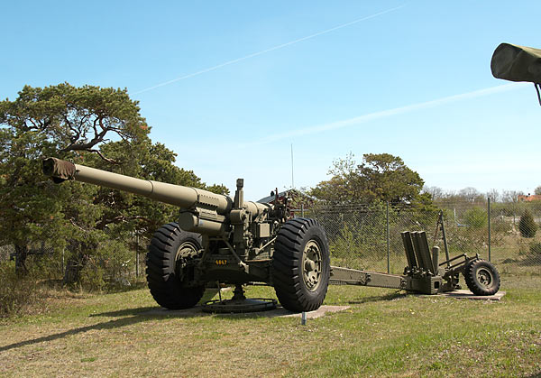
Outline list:
[[[250,59],[250,58],[257,57],[259,55],[265,54],[267,52],[282,49],[284,47],[290,46],[292,44],[295,44],[295,43],[298,43],[298,42],[301,42],[301,41],[307,41],[307,40],[315,38],[315,37],[317,37],[319,35],[326,34],[327,32],[334,32],[335,30],[342,29],[342,28],[344,28],[346,26],[353,25],[353,23],[361,23],[362,21],[370,20],[371,18],[377,17],[377,16],[379,16],[381,14],[388,14],[390,12],[394,12],[396,10],[399,10],[400,8],[403,8],[404,6],[405,5],[400,5],[400,6],[397,6],[395,8],[390,8],[390,9],[388,9],[386,11],[378,12],[377,14],[367,15],[365,17],[359,18],[359,19],[351,21],[349,23],[343,23],[343,24],[335,26],[335,27],[333,27],[331,29],[326,29],[326,30],[324,30],[322,32],[316,32],[314,34],[307,35],[306,37],[299,38],[298,40],[282,43],[282,44],[279,44],[277,46],[271,47],[271,48],[266,49],[266,50],[253,52],[252,54],[246,55],[246,56],[244,56],[242,58],[237,58],[237,59],[234,59],[234,60],[225,61],[224,63],[220,63],[220,64],[218,64],[216,66],[209,67],[208,69],[201,69],[200,71],[193,72],[193,73],[190,73],[188,75],[181,76],[179,78],[173,78],[171,80],[164,81],[163,83],[156,84],[155,86],[152,86],[152,87],[149,87],[149,88],[144,88],[144,89],[138,90],[137,92],[133,92],[133,95],[139,95],[140,93],[148,92],[149,90],[152,90],[152,89],[168,86],[168,85],[170,85],[172,83],[175,83],[177,81],[184,80],[185,78],[193,78],[194,76],[201,75],[201,74],[204,74],[204,73],[209,72],[209,71],[214,71],[215,69],[221,69],[222,67],[229,66],[230,64],[237,63],[237,62],[239,62],[241,60],[247,60],[247,59]]]

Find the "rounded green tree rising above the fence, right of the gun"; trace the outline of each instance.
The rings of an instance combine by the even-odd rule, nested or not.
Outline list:
[[[321,181],[310,195],[330,203],[389,201],[392,205],[426,206],[430,195],[421,194],[424,181],[404,161],[390,153],[367,153],[362,163],[353,154],[334,161],[330,180]]]

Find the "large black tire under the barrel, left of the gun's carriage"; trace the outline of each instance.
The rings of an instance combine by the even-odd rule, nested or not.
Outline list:
[[[193,286],[193,266],[187,264],[200,249],[201,235],[183,231],[176,223],[161,226],[154,233],[146,274],[151,295],[161,307],[189,309],[201,300],[205,285]]]

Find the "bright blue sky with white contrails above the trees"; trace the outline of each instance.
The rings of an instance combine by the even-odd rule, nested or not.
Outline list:
[[[178,165],[245,198],[326,180],[353,152],[428,186],[541,185],[533,85],[492,78],[500,42],[541,48],[539,1],[4,2],[0,97],[128,88]]]

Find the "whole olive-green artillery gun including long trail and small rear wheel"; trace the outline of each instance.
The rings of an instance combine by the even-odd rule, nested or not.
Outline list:
[[[233,300],[214,301],[208,307],[216,312],[275,307],[275,300],[246,300],[243,284],[248,283],[273,286],[280,304],[291,311],[319,308],[329,283],[437,294],[459,288],[463,273],[478,295],[500,288],[498,271],[478,255],[449,258],[445,242],[446,260],[439,263],[439,248],[430,253],[425,232],[402,233],[408,258],[402,275],[331,266],[325,230],[315,219],[291,217],[289,199],[280,198],[278,190],[270,203],[244,201],[243,179],[236,181],[230,198],[55,158],[43,161],[43,172],[57,183],[78,180],[180,207],[178,222],[155,232],[146,258],[151,295],[167,309],[195,306],[209,282],[235,285]]]

